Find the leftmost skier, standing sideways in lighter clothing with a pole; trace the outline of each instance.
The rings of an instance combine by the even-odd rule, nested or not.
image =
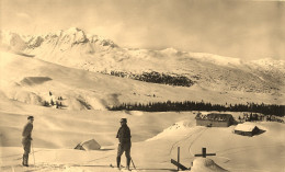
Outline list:
[[[33,130],[33,122],[34,122],[34,116],[29,116],[27,117],[27,124],[24,126],[22,136],[22,145],[24,148],[24,154],[23,154],[23,162],[22,164],[24,167],[29,167],[29,153],[31,152],[31,141],[32,139],[32,130]]]

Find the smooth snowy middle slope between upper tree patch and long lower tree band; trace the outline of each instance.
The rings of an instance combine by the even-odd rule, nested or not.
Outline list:
[[[190,88],[141,82],[68,68],[36,58],[0,54],[2,96],[27,104],[44,105],[58,101],[68,110],[105,110],[126,102],[201,101],[215,103],[276,103],[278,95],[220,92],[194,84]],[[52,96],[49,95],[52,92]],[[62,100],[58,100],[61,96]]]

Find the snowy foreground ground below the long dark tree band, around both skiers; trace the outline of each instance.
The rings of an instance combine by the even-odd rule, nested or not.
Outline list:
[[[65,111],[30,106],[14,102],[14,108],[1,106],[1,171],[115,171],[119,118],[127,117],[132,130],[132,157],[137,171],[175,171],[170,163],[181,149],[181,163],[190,168],[202,148],[216,153],[208,157],[233,172],[282,172],[285,170],[285,125],[275,122],[255,123],[265,133],[244,137],[228,128],[195,125],[197,112],[109,112]],[[3,102],[2,102],[3,105]],[[11,104],[10,104],[11,105]],[[9,111],[10,110],[10,111]],[[11,111],[13,110],[13,111]],[[25,112],[25,113],[22,113]],[[21,167],[21,131],[26,116],[33,114],[34,154],[31,168]],[[232,113],[235,117],[240,113]],[[101,150],[75,150],[77,144],[95,139]],[[35,158],[35,165],[34,165]],[[125,157],[122,158],[125,164]]]

